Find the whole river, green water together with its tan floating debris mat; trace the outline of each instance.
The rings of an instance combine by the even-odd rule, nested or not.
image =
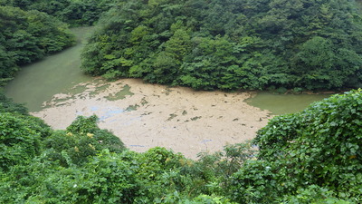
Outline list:
[[[92,28],[71,31],[76,46],[24,66],[5,87],[6,95],[25,103],[53,129],[65,129],[79,115],[96,114],[100,128],[133,151],[161,146],[196,159],[200,151],[251,140],[271,114],[298,112],[328,96],[259,92],[251,97],[252,92],[195,92],[136,79],[106,82],[80,70],[81,48]]]

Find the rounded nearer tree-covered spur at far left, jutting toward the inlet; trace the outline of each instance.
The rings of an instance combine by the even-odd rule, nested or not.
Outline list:
[[[0,6],[0,85],[14,78],[20,65],[74,44],[68,25],[39,11]]]

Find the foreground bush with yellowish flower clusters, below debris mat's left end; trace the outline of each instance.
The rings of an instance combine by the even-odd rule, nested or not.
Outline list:
[[[44,143],[49,160],[59,160],[62,166],[81,165],[99,151],[121,152],[126,148],[110,131],[100,130],[97,116],[79,116],[67,131],[54,131]]]

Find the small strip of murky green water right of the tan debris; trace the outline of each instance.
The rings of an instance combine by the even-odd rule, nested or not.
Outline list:
[[[274,115],[300,112],[310,105],[328,98],[330,94],[275,94],[258,92],[255,97],[245,100],[250,105],[268,110]]]

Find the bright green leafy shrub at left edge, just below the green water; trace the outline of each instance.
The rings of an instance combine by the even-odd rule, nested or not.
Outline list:
[[[41,141],[50,134],[48,125],[0,92],[0,170],[27,164],[43,151]]]

